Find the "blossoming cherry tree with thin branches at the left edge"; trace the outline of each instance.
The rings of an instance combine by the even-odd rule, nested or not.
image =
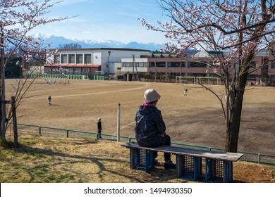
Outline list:
[[[42,39],[35,39],[27,35],[39,25],[66,20],[68,17],[47,18],[50,8],[59,4],[59,1],[51,3],[51,0],[28,1],[13,0],[0,2],[0,39],[1,39],[1,144],[6,143],[6,124],[11,119],[11,108],[6,108],[5,94],[5,68],[11,58],[19,56],[22,61],[16,63],[21,68],[29,61],[46,60],[49,53],[42,47]],[[25,100],[27,90],[34,79],[27,77],[16,80],[13,84],[16,108]],[[6,111],[8,110],[8,111]]]

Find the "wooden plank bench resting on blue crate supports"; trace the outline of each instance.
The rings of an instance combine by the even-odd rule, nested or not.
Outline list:
[[[202,178],[202,158],[205,159],[205,182],[232,182],[233,162],[243,154],[226,153],[221,151],[197,150],[178,146],[159,146],[147,148],[137,142],[121,144],[130,148],[130,169],[150,172],[154,168],[156,152],[176,155],[176,177],[181,179],[198,180]]]

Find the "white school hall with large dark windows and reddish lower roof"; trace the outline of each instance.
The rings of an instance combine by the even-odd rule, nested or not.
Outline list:
[[[62,75],[104,75],[106,80],[114,80],[115,63],[121,58],[140,56],[149,50],[90,48],[59,49],[59,54],[51,56],[44,73]]]

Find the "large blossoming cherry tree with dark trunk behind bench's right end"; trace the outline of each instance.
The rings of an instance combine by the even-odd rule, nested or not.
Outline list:
[[[261,49],[269,49],[275,40],[274,0],[159,0],[159,5],[171,18],[170,23],[159,22],[159,27],[142,19],[149,30],[165,32],[165,37],[176,42],[166,44],[166,50],[185,53],[200,47],[214,51],[213,70],[224,83],[226,102],[214,91],[221,103],[226,122],[226,145],[229,152],[237,152],[240,116],[247,75],[252,60]],[[227,51],[227,54],[225,53]],[[235,68],[231,64],[236,63]],[[234,70],[232,70],[234,69]],[[233,72],[233,76],[231,73]]]

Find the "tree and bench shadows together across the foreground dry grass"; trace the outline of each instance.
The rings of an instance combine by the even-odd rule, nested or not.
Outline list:
[[[78,144],[78,145],[85,145],[85,144],[95,144],[98,143],[97,141],[83,141],[82,143],[74,143],[74,144]],[[98,175],[98,179],[99,182],[100,180],[102,180],[102,182],[107,182],[109,180],[109,182],[120,182],[114,179],[103,179],[102,177],[104,176],[108,176],[109,174],[111,175],[111,177],[115,177],[116,175],[118,176],[118,180],[123,180],[123,179],[129,179],[129,180],[133,180],[133,182],[140,182],[140,183],[147,183],[147,182],[181,182],[181,183],[185,183],[185,182],[194,182],[190,179],[176,179],[176,175],[175,175],[175,170],[165,170],[163,164],[158,163],[158,165],[155,166],[155,168],[149,172],[149,173],[145,173],[142,171],[138,171],[138,170],[130,170],[129,168],[126,170],[126,168],[129,166],[129,163],[126,164],[125,160],[120,160],[119,158],[103,158],[100,157],[100,154],[98,154],[98,156],[90,156],[90,155],[71,155],[68,153],[61,153],[58,150],[54,150],[55,147],[51,148],[35,148],[32,146],[27,146],[25,144],[19,144],[18,147],[14,147],[13,144],[8,144],[6,146],[7,149],[12,149],[13,151],[17,152],[17,153],[23,153],[26,155],[32,155],[32,156],[36,156],[38,158],[43,158],[45,155],[50,156],[53,159],[53,162],[51,163],[47,163],[45,162],[42,165],[35,165],[33,167],[29,167],[27,165],[25,165],[23,167],[23,169],[25,169],[25,171],[29,174],[30,179],[28,180],[28,182],[37,182],[37,172],[41,172],[43,170],[47,170],[47,168],[52,167],[52,166],[58,166],[58,165],[73,165],[73,164],[79,164],[82,163],[84,165],[89,165],[89,163],[93,163],[95,165],[97,165],[97,167],[100,169],[98,170],[98,172],[95,172],[94,174]],[[113,153],[114,154],[114,153]],[[120,155],[118,155],[119,157]],[[59,157],[59,158],[55,158],[55,157]],[[68,158],[68,159],[72,159],[72,160],[64,160],[63,158]],[[10,160],[10,158],[2,158],[4,160],[9,160],[9,163],[11,163],[11,165],[16,165],[16,162],[13,163],[13,161]],[[113,169],[108,169],[108,167],[106,167],[106,163],[114,163],[114,165],[119,165],[122,167],[118,167],[117,170],[113,170]],[[105,164],[105,165],[104,165]],[[87,167],[87,165],[85,167]],[[127,166],[128,165],[128,166]],[[70,168],[70,167],[68,167]],[[75,169],[74,169],[75,170]],[[75,172],[75,171],[73,171]],[[77,170],[76,170],[77,172]],[[61,173],[61,172],[58,172]],[[64,171],[64,173],[66,174],[70,174],[69,171]],[[78,176],[78,173],[76,173],[75,175],[71,175],[71,176]],[[81,175],[82,176],[82,175]],[[81,179],[81,177],[80,177]],[[45,180],[46,182],[47,180]],[[87,181],[87,179],[86,179]],[[64,179],[58,179],[58,178],[52,178],[49,179],[49,182],[64,182]],[[81,182],[81,181],[80,181]],[[202,178],[195,181],[197,183],[204,183],[205,179],[204,179],[204,174],[202,174]],[[216,182],[214,182],[216,183]],[[242,181],[238,181],[238,180],[233,180],[233,183],[242,183]]]

